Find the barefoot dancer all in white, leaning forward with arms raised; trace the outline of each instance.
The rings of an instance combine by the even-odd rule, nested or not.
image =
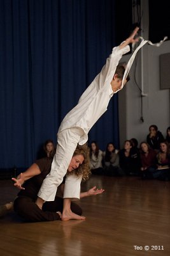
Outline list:
[[[83,145],[87,142],[88,132],[107,110],[113,94],[121,90],[129,80],[127,72],[126,77],[124,77],[125,68],[118,66],[118,62],[123,54],[130,51],[129,44],[138,42],[138,38],[135,38],[138,30],[139,28],[134,29],[129,38],[118,47],[113,48],[101,72],[81,95],[78,104],[62,120],[57,134],[57,150],[53,158],[52,168],[39,189],[36,204],[40,208],[43,202],[54,200],[57,187],[66,175],[77,144]],[[69,204],[71,198],[72,200],[73,198],[80,198],[80,182],[81,177],[75,179],[74,175],[70,175],[66,179],[64,189],[64,209],[66,211],[63,211],[63,220],[65,218],[67,220],[76,219],[75,215],[72,216],[71,210],[69,211]]]

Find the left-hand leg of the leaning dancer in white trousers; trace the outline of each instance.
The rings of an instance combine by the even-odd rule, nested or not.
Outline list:
[[[67,172],[71,157],[73,157],[74,150],[82,134],[83,130],[76,127],[66,129],[59,133],[57,150],[53,158],[51,171],[39,189],[38,196],[41,200],[54,200],[57,187],[60,185]],[[36,204],[38,204],[38,201]]]

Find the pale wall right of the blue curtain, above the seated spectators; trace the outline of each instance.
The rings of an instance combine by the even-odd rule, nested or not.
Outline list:
[[[159,56],[166,52],[170,52],[170,40],[164,42],[160,47],[148,44],[143,47],[143,91],[147,94],[146,97],[143,97],[144,122],[140,120],[141,92],[136,86],[134,78],[134,74],[136,74],[137,84],[141,88],[141,52],[138,53],[136,59],[137,65],[136,63],[132,65],[131,81],[118,93],[120,147],[123,147],[126,139],[136,138],[139,143],[146,140],[148,127],[151,124],[157,125],[162,134],[166,136],[166,129],[170,126],[170,90],[160,90],[159,70]],[[124,56],[122,61],[127,61],[129,58],[130,56]]]

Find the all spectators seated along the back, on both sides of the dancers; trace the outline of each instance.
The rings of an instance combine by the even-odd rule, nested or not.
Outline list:
[[[159,178],[163,173],[160,172],[160,169],[162,170],[159,164],[160,159],[169,163],[170,127],[166,130],[167,143],[164,142],[164,136],[157,125],[150,125],[149,131],[146,141],[143,141],[139,148],[136,138],[126,140],[121,150],[115,148],[114,143],[110,142],[104,152],[99,149],[96,141],[92,141],[90,144],[91,172],[108,176],[141,175],[143,179]],[[53,141],[46,140],[36,158],[53,157],[54,154]],[[170,164],[163,165],[166,165],[165,173],[167,173],[169,170],[167,166]]]

